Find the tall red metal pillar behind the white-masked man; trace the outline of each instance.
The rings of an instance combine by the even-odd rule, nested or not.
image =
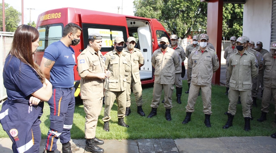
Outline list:
[[[209,36],[209,42],[212,43],[216,49],[217,57],[220,62],[223,0],[209,0],[207,11],[207,35]],[[212,83],[220,84],[220,68],[213,74]]]

